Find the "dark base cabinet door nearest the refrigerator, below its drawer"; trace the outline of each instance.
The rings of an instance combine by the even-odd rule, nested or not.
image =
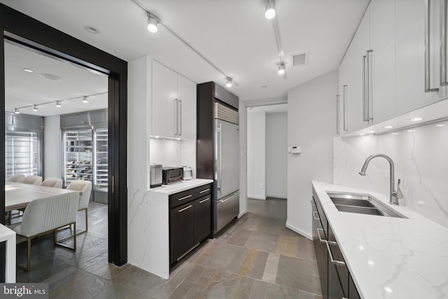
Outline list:
[[[195,200],[195,244],[211,233],[211,195]]]

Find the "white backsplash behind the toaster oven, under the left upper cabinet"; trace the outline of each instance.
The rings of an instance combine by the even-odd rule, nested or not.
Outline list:
[[[196,177],[196,141],[151,138],[150,160],[165,166],[188,166]]]

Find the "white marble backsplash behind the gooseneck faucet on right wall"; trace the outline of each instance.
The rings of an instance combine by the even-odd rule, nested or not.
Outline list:
[[[333,183],[388,196],[389,165],[374,158],[366,176],[359,172],[374,153],[389,155],[395,164],[395,188],[400,204],[448,227],[448,122],[433,123],[388,134],[336,137]]]

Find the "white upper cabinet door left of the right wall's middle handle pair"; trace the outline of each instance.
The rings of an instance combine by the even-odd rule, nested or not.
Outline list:
[[[363,56],[370,49],[370,8],[367,8],[346,57],[346,97],[349,132],[366,127],[363,120]]]

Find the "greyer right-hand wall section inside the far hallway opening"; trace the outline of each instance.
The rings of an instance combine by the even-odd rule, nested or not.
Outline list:
[[[286,198],[288,181],[288,113],[266,114],[266,195]]]

